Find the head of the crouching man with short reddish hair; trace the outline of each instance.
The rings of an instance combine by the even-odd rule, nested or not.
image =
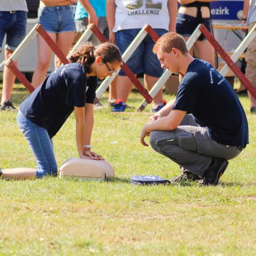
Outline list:
[[[161,67],[172,73],[180,72],[184,57],[190,56],[184,38],[175,32],[162,35],[153,48]]]

